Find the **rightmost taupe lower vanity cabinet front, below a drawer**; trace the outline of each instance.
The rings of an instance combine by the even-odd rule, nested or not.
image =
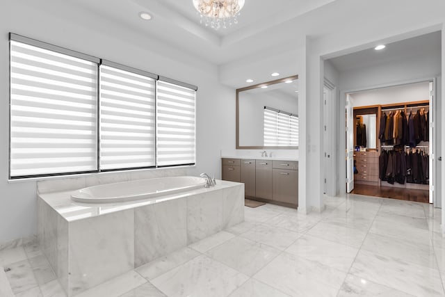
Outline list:
[[[298,205],[298,170],[273,170],[273,200]]]

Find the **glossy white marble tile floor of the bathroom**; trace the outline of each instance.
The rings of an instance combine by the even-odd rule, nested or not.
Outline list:
[[[362,195],[325,204],[306,216],[246,207],[245,222],[77,296],[445,295],[440,209]],[[65,297],[38,246],[0,251],[0,268],[1,296]]]

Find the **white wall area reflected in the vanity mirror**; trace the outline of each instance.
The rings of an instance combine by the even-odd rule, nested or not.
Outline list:
[[[239,104],[239,145],[264,145],[264,106],[298,115],[298,99],[281,92],[241,92]]]

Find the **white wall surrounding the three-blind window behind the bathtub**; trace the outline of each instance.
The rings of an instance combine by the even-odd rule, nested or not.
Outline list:
[[[35,3],[39,2],[39,3]],[[198,86],[197,166],[188,174],[220,178],[220,149],[235,146],[235,91],[218,82],[215,65],[67,1],[3,0],[0,15],[0,245],[36,233],[35,182],[8,183],[8,33],[106,58]]]

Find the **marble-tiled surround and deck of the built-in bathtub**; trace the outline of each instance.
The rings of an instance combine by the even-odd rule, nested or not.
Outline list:
[[[70,193],[38,199],[41,248],[68,296],[244,220],[244,185],[234,182],[115,204],[79,204]]]

